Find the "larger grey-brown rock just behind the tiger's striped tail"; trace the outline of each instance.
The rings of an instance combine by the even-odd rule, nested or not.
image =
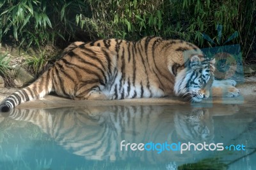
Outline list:
[[[25,86],[34,80],[34,77],[20,66],[15,66],[13,70],[15,71],[14,83],[17,87]]]

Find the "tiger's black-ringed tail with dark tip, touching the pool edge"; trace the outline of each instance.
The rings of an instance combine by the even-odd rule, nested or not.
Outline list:
[[[23,102],[42,98],[49,94],[53,90],[50,75],[52,75],[51,69],[43,73],[42,76],[31,85],[15,91],[12,95],[6,97],[0,104],[0,112],[10,112],[15,106]]]

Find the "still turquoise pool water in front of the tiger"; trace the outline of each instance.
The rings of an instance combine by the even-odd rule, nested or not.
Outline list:
[[[255,112],[216,104],[15,109],[0,116],[0,169],[256,169]]]

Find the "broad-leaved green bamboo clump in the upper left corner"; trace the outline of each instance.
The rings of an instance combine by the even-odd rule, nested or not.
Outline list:
[[[20,45],[54,43],[76,33],[74,20],[84,1],[3,0],[0,2],[0,38],[12,36]]]

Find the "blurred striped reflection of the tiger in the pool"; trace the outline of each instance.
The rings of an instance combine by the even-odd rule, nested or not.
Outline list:
[[[226,106],[225,114],[237,107]],[[235,107],[235,108],[234,108]],[[213,142],[214,109],[161,105],[101,106],[59,109],[15,109],[8,118],[29,121],[50,135],[65,150],[89,160],[125,160],[137,157],[151,163],[191,157],[179,151],[120,151],[125,143]],[[220,113],[220,112],[218,112]],[[7,116],[7,115],[6,115]]]

